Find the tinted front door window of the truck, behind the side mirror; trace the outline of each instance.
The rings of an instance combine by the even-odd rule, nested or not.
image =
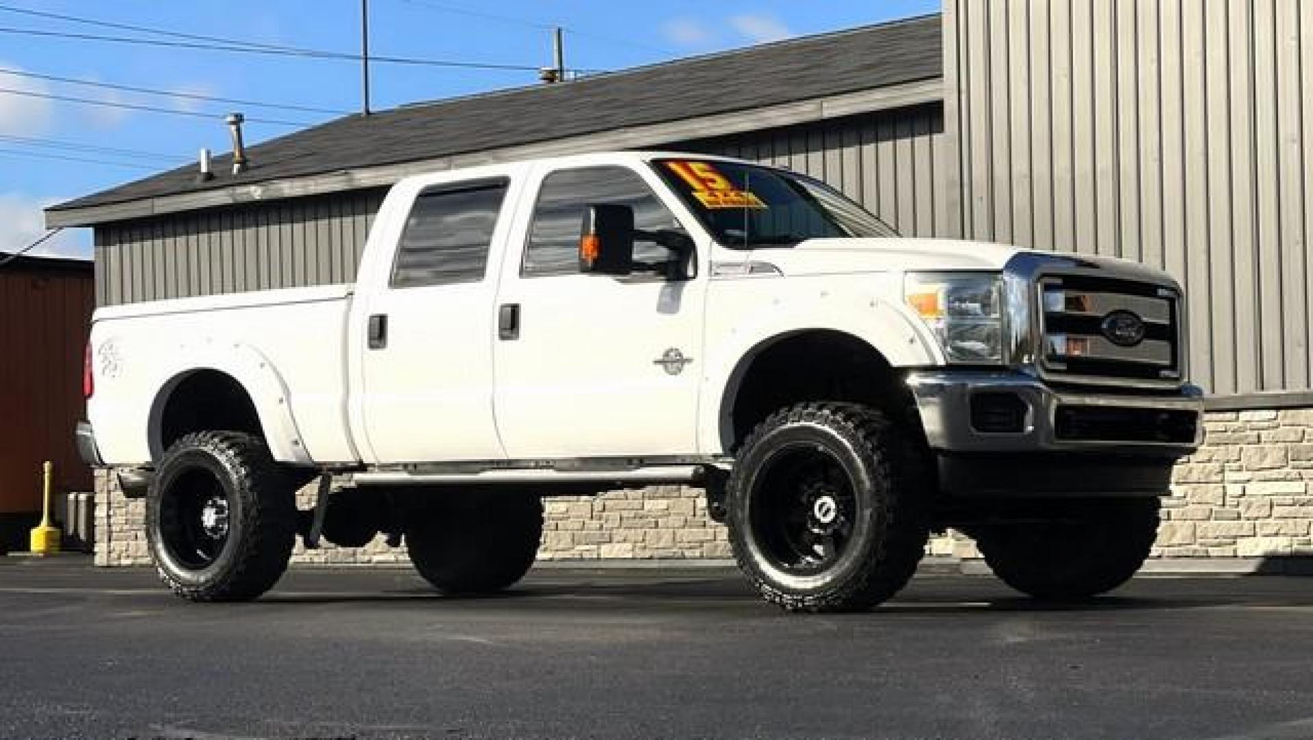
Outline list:
[[[579,228],[584,207],[616,203],[634,210],[634,270],[667,274],[680,256],[655,241],[685,235],[675,214],[642,177],[624,167],[586,167],[553,172],[542,181],[524,253],[525,276],[579,272]]]

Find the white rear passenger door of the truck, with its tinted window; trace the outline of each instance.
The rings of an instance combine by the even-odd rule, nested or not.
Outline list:
[[[366,297],[361,420],[373,462],[503,458],[492,419],[495,265],[509,180],[428,186]]]

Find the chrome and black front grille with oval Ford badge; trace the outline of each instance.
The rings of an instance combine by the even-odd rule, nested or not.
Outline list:
[[[1182,382],[1180,295],[1161,285],[1091,276],[1039,282],[1039,360],[1073,382]]]

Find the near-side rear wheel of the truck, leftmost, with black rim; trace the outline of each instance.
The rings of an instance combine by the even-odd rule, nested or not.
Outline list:
[[[295,482],[259,437],[197,432],[160,459],[146,499],[146,539],[177,596],[263,594],[286,569],[295,531]]]

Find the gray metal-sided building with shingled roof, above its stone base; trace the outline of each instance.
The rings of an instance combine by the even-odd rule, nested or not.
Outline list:
[[[947,0],[941,17],[347,117],[252,147],[242,176],[219,157],[214,181],[181,168],[49,219],[96,226],[98,304],[349,282],[406,175],[729,154],[822,177],[903,234],[1165,268],[1215,405],[1272,407],[1313,390],[1310,104],[1306,3]]]

